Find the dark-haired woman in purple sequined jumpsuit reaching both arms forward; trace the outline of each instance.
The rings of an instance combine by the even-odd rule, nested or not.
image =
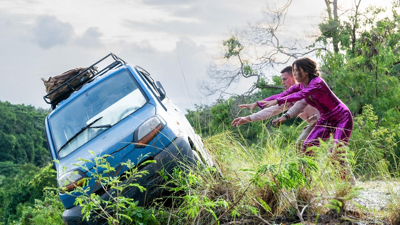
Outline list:
[[[342,152],[337,152],[336,149],[342,145],[347,145],[350,139],[353,129],[353,118],[350,110],[320,78],[320,72],[314,60],[308,57],[297,59],[293,62],[293,69],[298,83],[280,94],[261,101],[260,106],[269,107],[305,98],[308,104],[318,109],[321,117],[304,141],[303,153],[312,155],[312,151],[307,152],[307,148],[319,145],[318,138],[326,140],[332,133],[335,148],[331,149],[331,153],[335,150],[336,159],[341,165],[347,167],[345,161],[338,159],[337,156],[338,153],[345,153],[344,148],[341,148]],[[342,179],[345,179],[346,173],[347,171],[341,171]],[[353,177],[351,176],[350,179],[352,180]]]

